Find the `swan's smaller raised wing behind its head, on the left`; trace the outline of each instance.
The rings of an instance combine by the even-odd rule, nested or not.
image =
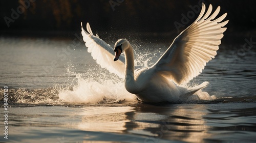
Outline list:
[[[83,41],[86,42],[88,52],[92,53],[93,59],[97,61],[101,68],[106,68],[110,72],[117,74],[120,78],[124,78],[124,56],[120,55],[119,60],[114,62],[114,49],[101,40],[97,34],[96,36],[93,35],[89,23],[87,23],[86,27],[88,32],[84,31],[81,22]]]

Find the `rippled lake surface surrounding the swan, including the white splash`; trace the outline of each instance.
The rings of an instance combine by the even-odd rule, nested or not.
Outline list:
[[[136,65],[142,66],[152,65],[168,47],[130,42]],[[83,43],[2,37],[0,47],[0,92],[8,87],[9,105],[5,139],[1,96],[0,142],[256,141],[253,48],[222,44],[203,73],[183,85],[209,81],[197,96],[177,104],[145,104],[101,69]]]

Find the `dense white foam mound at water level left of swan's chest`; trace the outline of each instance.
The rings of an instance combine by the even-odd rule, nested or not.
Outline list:
[[[125,90],[121,80],[114,82],[113,79],[108,79],[98,82],[91,78],[83,79],[79,75],[76,75],[76,78],[77,85],[73,87],[73,91],[67,89],[59,91],[59,99],[62,102],[97,104],[100,102],[136,101],[136,96]]]

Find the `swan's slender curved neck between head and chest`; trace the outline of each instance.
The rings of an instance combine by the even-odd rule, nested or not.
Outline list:
[[[125,79],[124,85],[128,92],[136,94],[139,92],[139,86],[134,79],[134,53],[132,45],[124,51],[125,55]]]

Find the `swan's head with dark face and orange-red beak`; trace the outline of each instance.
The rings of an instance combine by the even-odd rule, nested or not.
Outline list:
[[[115,52],[114,61],[117,61],[122,51],[125,51],[128,48],[129,48],[129,42],[126,39],[120,39],[116,41],[116,44],[114,47],[114,52]]]

